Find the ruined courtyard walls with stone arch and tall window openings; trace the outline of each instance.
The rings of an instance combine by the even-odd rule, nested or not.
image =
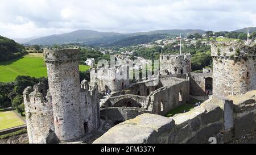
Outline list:
[[[131,119],[143,113],[164,115],[173,108],[189,101],[189,81],[187,79],[164,77],[159,79],[159,84],[163,87],[152,91],[147,97],[129,94],[110,97],[101,103],[103,108],[101,113],[104,111],[110,120],[124,121],[124,119]],[[113,107],[117,102],[127,101],[123,99],[135,100],[142,107]]]

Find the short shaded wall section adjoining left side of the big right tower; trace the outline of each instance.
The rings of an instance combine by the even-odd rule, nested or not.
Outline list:
[[[206,78],[212,78],[212,73],[189,73],[189,93],[191,95],[204,96],[205,95],[205,86],[208,83]],[[212,83],[209,83],[212,85]]]

